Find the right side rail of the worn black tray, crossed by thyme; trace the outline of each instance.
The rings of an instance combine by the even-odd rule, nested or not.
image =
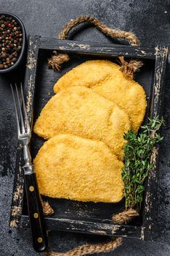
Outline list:
[[[152,89],[152,102],[150,105],[150,118],[155,116],[162,116],[162,102],[163,102],[163,83],[166,71],[166,61],[169,54],[169,48],[155,48],[155,75]],[[158,183],[158,170],[159,170],[159,146],[156,147],[156,166],[148,176],[144,210],[143,210],[143,223],[142,223],[142,239],[152,240],[153,226],[155,218],[155,200],[156,189]]]

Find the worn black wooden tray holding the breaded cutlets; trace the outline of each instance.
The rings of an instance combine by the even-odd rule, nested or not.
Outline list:
[[[67,52],[71,60],[63,65],[61,72],[54,72],[47,67],[47,59],[53,50]],[[169,48],[144,48],[125,45],[97,44],[93,42],[75,42],[69,40],[29,37],[28,59],[25,80],[25,96],[29,121],[35,121],[47,101],[53,96],[56,80],[66,71],[88,59],[110,59],[117,56],[137,58],[144,61],[144,67],[136,73],[136,80],[142,84],[147,94],[147,113],[150,116],[161,116],[163,100],[163,76]],[[34,158],[42,138],[32,135],[31,154]],[[22,150],[18,145],[14,192],[10,226],[17,226],[20,217],[22,226],[28,226],[28,212],[23,189]],[[82,203],[72,200],[47,198],[55,214],[46,218],[48,230],[65,230],[80,233],[92,233],[108,236],[127,236],[129,238],[152,239],[155,192],[158,173],[158,157],[155,170],[150,173],[144,193],[144,203],[140,217],[128,225],[116,225],[112,214],[123,211],[125,200],[120,203]]]

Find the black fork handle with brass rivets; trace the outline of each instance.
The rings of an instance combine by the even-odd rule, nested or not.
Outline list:
[[[42,200],[36,181],[36,173],[34,173],[33,165],[23,166],[23,170],[33,247],[37,252],[43,252],[48,244],[47,230],[42,211]]]

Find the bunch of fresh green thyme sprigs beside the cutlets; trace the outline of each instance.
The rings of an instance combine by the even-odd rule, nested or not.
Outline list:
[[[136,135],[130,131],[125,135],[124,153],[125,165],[122,176],[125,186],[125,208],[136,208],[139,211],[142,205],[144,180],[155,167],[151,155],[155,144],[163,138],[157,132],[163,124],[163,118],[148,118],[148,124],[141,127],[142,131]]]

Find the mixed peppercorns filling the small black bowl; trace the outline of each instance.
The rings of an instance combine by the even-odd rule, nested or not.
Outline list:
[[[15,64],[23,46],[23,33],[18,22],[8,15],[0,15],[0,69]]]

